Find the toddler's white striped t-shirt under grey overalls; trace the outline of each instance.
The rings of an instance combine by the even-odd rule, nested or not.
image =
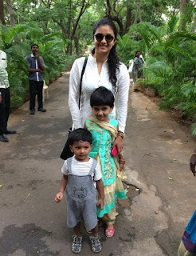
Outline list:
[[[73,156],[72,164],[71,164],[72,174],[76,175],[76,176],[88,175],[89,171],[91,169],[91,166],[92,166],[92,161],[93,161],[93,159],[89,158],[88,162],[80,162],[80,161],[77,161],[76,158]],[[62,166],[61,172],[65,175],[69,175],[67,160],[65,160],[64,165]],[[99,181],[101,178],[102,178],[102,174],[100,171],[100,165],[97,162],[94,174],[92,174],[92,180]],[[96,184],[96,182],[95,182],[95,184]]]

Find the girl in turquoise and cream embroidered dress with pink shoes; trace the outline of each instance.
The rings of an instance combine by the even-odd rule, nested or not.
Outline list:
[[[107,224],[106,236],[112,238],[115,231],[116,198],[126,198],[122,184],[122,178],[126,178],[123,172],[125,161],[121,154],[117,158],[111,154],[118,133],[117,120],[108,117],[114,107],[112,91],[100,86],[92,93],[90,105],[94,116],[85,122],[85,128],[92,133],[92,150],[89,156],[100,163],[104,183],[104,209],[98,209],[97,215]]]

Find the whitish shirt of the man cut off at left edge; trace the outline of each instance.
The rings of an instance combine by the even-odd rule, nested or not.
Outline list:
[[[0,50],[0,88],[5,88],[5,89],[10,86],[6,67],[7,67],[6,53]]]

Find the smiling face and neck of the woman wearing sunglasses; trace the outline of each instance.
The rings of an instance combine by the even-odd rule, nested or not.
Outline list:
[[[103,34],[104,38],[99,42],[96,40],[95,34]],[[108,25],[99,26],[95,34],[94,34],[95,56],[97,54],[109,54],[110,50],[112,49],[112,46],[114,46],[116,43],[114,31],[112,30],[111,26],[108,26]],[[112,42],[107,42],[106,40],[107,37],[105,38],[107,34],[112,35],[112,37],[114,38]]]

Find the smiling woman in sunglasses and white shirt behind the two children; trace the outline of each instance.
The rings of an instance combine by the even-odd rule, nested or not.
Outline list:
[[[127,119],[127,100],[129,91],[129,74],[127,67],[119,61],[116,54],[116,26],[108,18],[101,18],[93,29],[94,49],[88,56],[87,66],[82,78],[80,109],[80,75],[84,57],[76,59],[69,78],[69,108],[73,118],[74,129],[84,127],[86,118],[92,115],[90,95],[100,86],[112,90],[116,106],[110,118],[119,123],[118,136],[113,142],[120,153],[123,149],[123,135]]]

